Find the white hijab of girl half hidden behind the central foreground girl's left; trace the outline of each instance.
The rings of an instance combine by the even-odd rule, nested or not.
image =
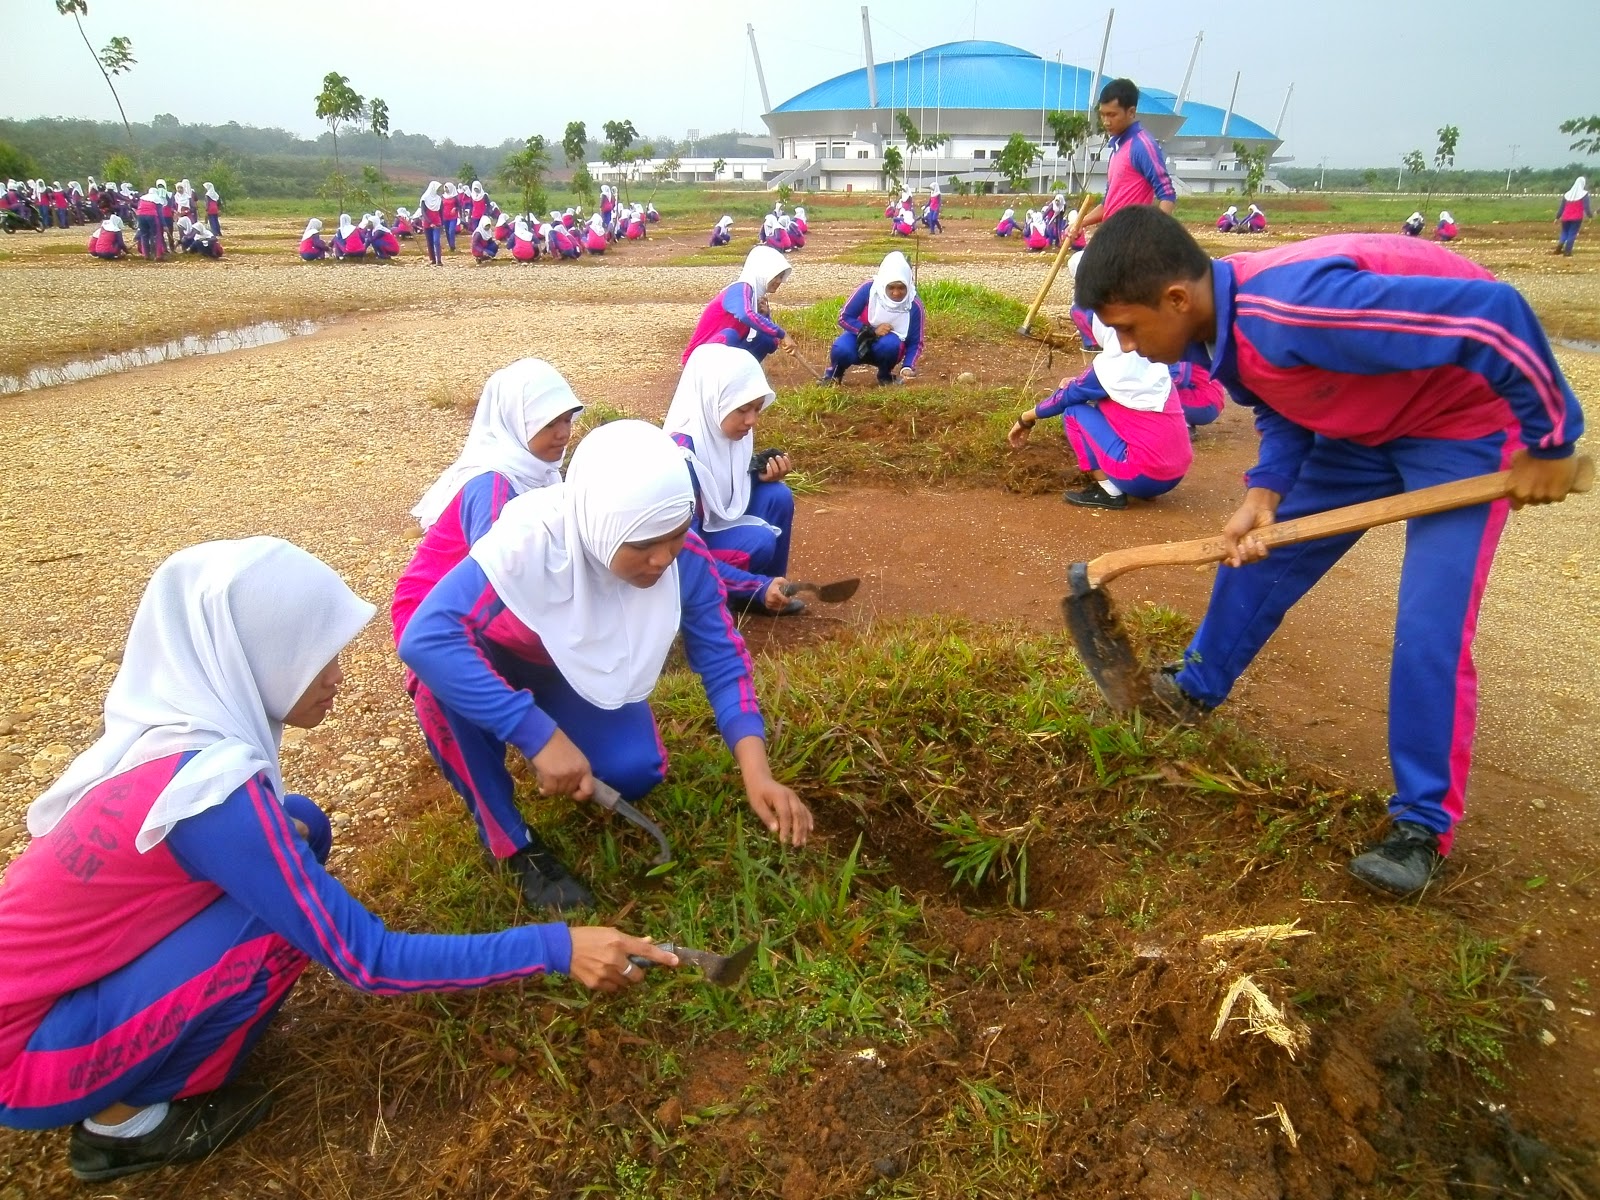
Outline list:
[[[542,358],[502,366],[483,384],[461,454],[422,493],[411,515],[424,530],[432,528],[462,485],[488,470],[509,478],[518,493],[560,483],[562,464],[536,458],[528,442],[562,413],[582,410],[562,373]]]

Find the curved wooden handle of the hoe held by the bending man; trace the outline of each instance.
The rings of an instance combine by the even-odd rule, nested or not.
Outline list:
[[[1587,454],[1578,456],[1578,472],[1573,477],[1573,491],[1589,491],[1594,486],[1595,467]],[[1314,512],[1309,517],[1278,522],[1264,530],[1256,530],[1256,539],[1262,546],[1293,546],[1309,542],[1317,538],[1336,538],[1341,533],[1371,530],[1376,525],[1427,517],[1435,512],[1451,509],[1467,509],[1474,504],[1488,504],[1510,494],[1510,472],[1499,470],[1493,475],[1474,475],[1451,483],[1437,483],[1432,488],[1403,491],[1398,496],[1350,504],[1344,509]],[[1187,542],[1165,542],[1162,546],[1133,546],[1126,550],[1102,554],[1088,565],[1090,586],[1109,584],[1118,574],[1138,571],[1144,566],[1194,566],[1198,563],[1219,563],[1227,557],[1227,546],[1221,534],[1213,538],[1197,538]]]

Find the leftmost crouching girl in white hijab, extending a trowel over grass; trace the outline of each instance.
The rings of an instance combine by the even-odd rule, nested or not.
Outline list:
[[[106,733],[29,808],[0,885],[0,1125],[70,1125],[78,1179],[206,1158],[259,1123],[272,1090],[235,1075],[312,962],[390,995],[552,971],[614,992],[643,974],[629,955],[675,965],[616,930],[395,933],[325,870],[331,826],[285,790],[278,742],[333,710],[371,616],[277,538],[179,550],[134,613]]]

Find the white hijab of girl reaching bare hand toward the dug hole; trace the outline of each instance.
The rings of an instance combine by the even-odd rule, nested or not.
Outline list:
[[[573,690],[619,709],[654,690],[682,605],[677,563],[634,587],[611,558],[624,542],[683,528],[693,510],[678,445],[645,421],[613,421],[573,451],[565,483],[510,501],[472,558]]]

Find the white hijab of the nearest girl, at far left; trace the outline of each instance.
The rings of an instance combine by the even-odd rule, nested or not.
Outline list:
[[[134,845],[259,773],[278,798],[283,717],[376,610],[333,568],[278,538],[202,542],[155,568],[106,694],[106,731],[27,810],[43,837],[117,774],[198,750],[157,797]]]

